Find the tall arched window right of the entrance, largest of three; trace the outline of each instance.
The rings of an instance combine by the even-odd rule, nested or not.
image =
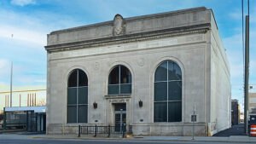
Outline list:
[[[182,121],[182,72],[172,60],[154,73],[154,122]]]

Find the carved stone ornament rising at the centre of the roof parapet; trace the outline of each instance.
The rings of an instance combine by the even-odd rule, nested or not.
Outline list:
[[[113,36],[119,36],[125,33],[125,24],[122,15],[116,14],[113,18]]]

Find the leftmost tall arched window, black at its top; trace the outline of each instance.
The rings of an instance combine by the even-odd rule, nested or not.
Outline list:
[[[88,79],[84,71],[75,69],[67,84],[67,123],[87,123]]]

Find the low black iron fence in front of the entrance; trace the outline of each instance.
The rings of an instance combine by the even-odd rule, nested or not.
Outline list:
[[[79,137],[80,135],[94,135],[96,137],[96,135],[98,134],[107,134],[108,137],[110,135],[123,135],[123,137],[125,137],[126,134],[131,135],[132,134],[132,127],[131,125],[128,126],[128,130],[126,130],[126,126],[122,125],[122,126],[98,126],[98,125],[94,125],[94,126],[81,126],[79,125]]]

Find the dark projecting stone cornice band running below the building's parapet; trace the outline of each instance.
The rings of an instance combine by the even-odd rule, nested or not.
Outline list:
[[[132,35],[118,36],[118,37],[106,37],[106,38],[93,39],[88,41],[48,45],[48,46],[45,46],[45,49],[48,52],[56,52],[56,51],[69,50],[69,49],[84,49],[84,48],[91,48],[91,47],[97,47],[97,46],[112,45],[112,44],[118,44],[118,43],[131,43],[131,42],[157,39],[157,38],[163,38],[163,37],[175,37],[175,36],[187,35],[187,34],[193,34],[193,33],[205,33],[210,29],[210,27],[211,27],[211,24],[183,26],[183,27],[165,29],[165,30],[160,30],[155,32],[144,32],[144,33],[137,33]]]

